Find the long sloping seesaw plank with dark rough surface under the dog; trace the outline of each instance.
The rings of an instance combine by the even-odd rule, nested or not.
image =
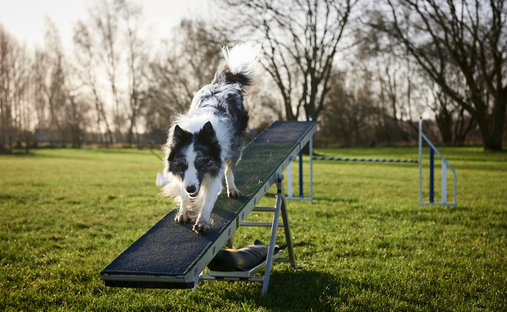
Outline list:
[[[234,171],[242,196],[231,199],[222,191],[211,213],[209,234],[193,232],[193,223],[175,223],[176,209],[170,211],[101,271],[106,286],[192,288],[193,280],[213,259],[215,250],[222,248],[240,220],[246,218],[245,212],[249,214],[260,200],[256,196],[269,189],[274,174],[283,171],[283,164],[290,161],[294,150],[299,151],[306,144],[315,128],[316,124],[310,121],[273,123],[244,148]],[[251,207],[249,211],[245,209],[247,205]]]

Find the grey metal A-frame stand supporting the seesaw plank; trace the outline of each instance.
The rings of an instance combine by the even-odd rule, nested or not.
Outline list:
[[[290,234],[289,216],[287,212],[287,206],[285,205],[285,195],[283,194],[283,174],[276,173],[276,205],[275,207],[255,207],[253,211],[267,211],[273,212],[273,222],[244,222],[243,226],[258,226],[258,227],[271,227],[271,237],[269,239],[269,248],[267,252],[267,259],[263,263],[260,263],[255,268],[249,271],[238,271],[238,272],[217,272],[210,271],[208,275],[203,275],[202,272],[195,279],[194,291],[197,291],[197,285],[199,281],[257,281],[263,283],[263,288],[260,291],[260,295],[265,295],[269,288],[269,278],[271,277],[271,269],[274,261],[290,262],[294,270],[297,269],[296,258],[294,257],[294,245],[292,244],[292,236]],[[282,215],[283,224],[279,223],[280,214]],[[276,232],[279,227],[283,227],[285,232],[285,241],[287,243],[288,258],[281,258],[281,252],[274,253],[276,245]],[[226,243],[228,247],[233,246],[232,238]],[[256,272],[265,268],[263,277],[253,277]]]

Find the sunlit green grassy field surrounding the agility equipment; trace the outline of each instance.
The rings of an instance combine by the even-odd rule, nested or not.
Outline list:
[[[275,264],[265,297],[244,282],[103,286],[101,269],[173,207],[148,151],[0,156],[0,311],[505,310],[507,153],[441,151],[458,172],[457,208],[419,207],[417,164],[315,162],[314,202],[288,202],[299,270]],[[317,153],[417,159],[417,148]],[[241,228],[235,243],[267,232]]]

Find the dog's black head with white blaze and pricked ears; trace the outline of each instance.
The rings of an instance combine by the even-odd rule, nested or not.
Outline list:
[[[181,177],[183,189],[193,199],[199,194],[205,175],[216,177],[222,169],[220,148],[210,121],[197,133],[174,127],[167,157],[167,171]]]

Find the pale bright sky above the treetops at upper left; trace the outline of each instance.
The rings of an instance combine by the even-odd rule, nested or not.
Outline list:
[[[88,7],[101,0],[0,0],[0,24],[20,43],[42,46],[44,18],[56,24],[64,49],[72,46],[72,32],[78,19],[87,19]],[[203,15],[211,1],[133,0],[142,5],[145,23],[153,39],[169,37],[169,31],[183,17]]]

